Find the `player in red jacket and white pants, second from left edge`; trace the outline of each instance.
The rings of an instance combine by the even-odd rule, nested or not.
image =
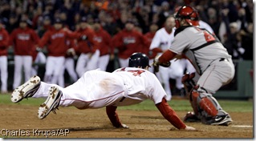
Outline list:
[[[21,20],[19,27],[10,34],[10,46],[14,46],[14,84],[13,88],[20,85],[22,80],[22,66],[25,80],[30,79],[32,69],[32,51],[39,43],[39,36],[35,30],[27,27],[26,20]]]

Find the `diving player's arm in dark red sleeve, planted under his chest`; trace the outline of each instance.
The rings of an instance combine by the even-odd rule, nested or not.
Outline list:
[[[114,127],[117,127],[117,128],[119,128],[119,127],[128,128],[127,125],[122,124],[120,122],[120,119],[118,118],[118,115],[116,113],[116,108],[117,107],[114,107],[114,106],[106,107],[106,112],[107,112],[107,115],[108,115],[108,119],[110,119],[110,121],[111,121],[111,123],[112,123],[112,125]]]

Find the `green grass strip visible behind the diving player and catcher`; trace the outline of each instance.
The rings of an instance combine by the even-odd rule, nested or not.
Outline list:
[[[39,106],[45,99],[23,99],[20,103],[22,105]],[[221,107],[228,112],[253,112],[253,101],[238,101],[238,100],[218,100]],[[0,104],[14,104],[10,101],[10,94],[0,95]],[[173,99],[169,102],[175,111],[192,111],[189,100],[186,99]],[[156,111],[157,108],[151,100],[145,100],[142,103],[128,106],[118,107],[118,110],[134,110],[134,111]]]

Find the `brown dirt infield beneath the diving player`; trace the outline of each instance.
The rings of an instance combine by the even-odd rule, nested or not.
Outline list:
[[[253,113],[249,112],[231,112],[234,123],[229,127],[187,123],[200,130],[189,132],[175,129],[159,111],[118,111],[122,123],[130,128],[116,129],[104,108],[81,111],[60,107],[57,115],[50,113],[46,119],[38,119],[35,106],[0,107],[0,136],[4,138],[253,138],[254,134]],[[177,112],[181,118],[185,113]]]

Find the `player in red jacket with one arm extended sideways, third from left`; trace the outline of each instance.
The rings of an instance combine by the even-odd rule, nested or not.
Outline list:
[[[63,22],[55,19],[54,29],[49,29],[39,42],[39,47],[47,46],[48,56],[44,80],[47,83],[57,83],[59,75],[63,70],[65,55],[67,53],[67,39],[79,38],[81,34],[72,33],[63,28]]]

